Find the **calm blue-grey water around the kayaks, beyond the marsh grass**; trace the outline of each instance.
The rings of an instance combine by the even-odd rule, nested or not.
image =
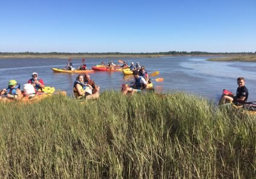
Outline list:
[[[249,89],[249,101],[256,101],[256,63],[255,62],[208,62],[209,57],[158,57],[158,58],[126,58],[131,62],[140,62],[150,73],[160,71],[159,76],[164,82],[154,82],[157,91],[182,90],[217,101],[222,89],[235,93],[237,77],[245,77]],[[86,59],[90,68],[100,62],[110,59]],[[118,59],[113,60],[117,62]],[[74,67],[80,65],[81,59],[73,59]],[[54,68],[64,68],[68,59],[0,59],[0,88],[6,88],[8,80],[15,79],[20,84],[27,83],[33,72],[37,72],[47,86],[73,93],[73,82],[78,74],[53,73]],[[123,76],[120,72],[94,72],[90,76],[100,86],[106,89],[120,90],[123,82],[133,79],[133,76]],[[154,77],[154,78],[157,78]]]

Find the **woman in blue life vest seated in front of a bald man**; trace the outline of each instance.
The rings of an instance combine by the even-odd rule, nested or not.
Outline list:
[[[99,98],[99,93],[93,94],[93,87],[91,85],[84,83],[84,76],[79,74],[77,76],[74,85],[73,92],[76,99],[97,99]]]

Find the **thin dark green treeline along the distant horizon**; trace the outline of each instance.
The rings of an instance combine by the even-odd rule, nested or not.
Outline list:
[[[112,55],[112,54],[134,54],[134,55],[138,55],[138,54],[159,54],[159,55],[176,55],[176,54],[180,54],[180,55],[186,55],[186,54],[191,54],[191,55],[209,55],[209,54],[256,54],[256,51],[253,52],[237,52],[237,53],[227,53],[227,52],[219,52],[219,53],[212,53],[212,52],[206,52],[206,51],[168,51],[168,52],[154,52],[154,53],[120,53],[120,52],[107,52],[107,53],[60,53],[60,52],[49,52],[49,53],[38,53],[38,52],[30,52],[30,51],[25,51],[25,52],[19,52],[19,53],[10,53],[10,52],[0,52],[0,54],[24,54],[24,55],[84,55],[84,54],[91,54],[91,55]]]

